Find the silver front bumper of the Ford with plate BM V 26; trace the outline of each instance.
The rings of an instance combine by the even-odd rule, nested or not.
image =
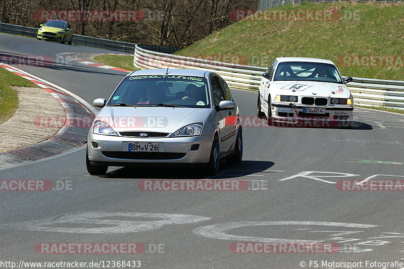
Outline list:
[[[213,136],[165,138],[134,138],[88,134],[88,159],[93,165],[129,166],[134,163],[198,164],[208,163]],[[158,143],[159,152],[136,153],[128,151],[128,143]],[[95,147],[95,144],[97,147]],[[199,145],[195,150],[196,146]]]

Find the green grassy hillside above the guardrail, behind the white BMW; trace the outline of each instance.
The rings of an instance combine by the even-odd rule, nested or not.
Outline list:
[[[277,57],[323,58],[333,61],[344,76],[404,80],[404,63],[378,67],[342,62],[347,56],[398,56],[404,61],[404,5],[343,2],[286,5],[273,10],[328,10],[341,16],[329,21],[247,18],[175,54],[235,56],[261,67],[268,67]]]

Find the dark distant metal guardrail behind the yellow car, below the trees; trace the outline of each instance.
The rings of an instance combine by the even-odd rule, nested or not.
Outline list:
[[[24,35],[24,36],[29,36],[29,37],[36,37],[38,28],[32,28],[32,27],[26,27],[26,26],[14,25],[14,24],[7,24],[7,23],[0,23],[0,32],[8,33],[8,34]],[[110,50],[124,51],[124,52],[128,52],[128,53],[133,53],[133,50],[135,49],[135,45],[136,45],[135,43],[102,39],[102,38],[96,38],[96,37],[78,35],[78,34],[73,35],[72,43],[75,45],[105,48],[105,49],[110,49]],[[154,46],[154,45],[141,45],[141,46],[144,48],[153,49],[153,50],[165,52],[165,53],[173,53],[174,51],[177,51],[180,49],[177,47],[170,47],[170,46]]]

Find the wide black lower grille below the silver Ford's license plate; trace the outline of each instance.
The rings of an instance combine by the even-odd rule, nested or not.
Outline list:
[[[117,159],[181,159],[186,153],[102,151],[104,156]]]

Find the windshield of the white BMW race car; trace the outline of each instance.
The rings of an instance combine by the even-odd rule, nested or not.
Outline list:
[[[335,66],[310,62],[279,63],[274,77],[274,81],[278,80],[322,81],[343,84]]]

